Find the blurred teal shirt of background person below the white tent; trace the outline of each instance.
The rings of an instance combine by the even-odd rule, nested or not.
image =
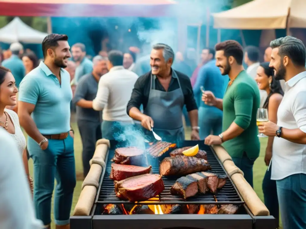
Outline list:
[[[19,87],[21,80],[25,76],[25,68],[22,60],[17,55],[12,55],[9,59],[3,60],[2,66],[11,70],[17,87]]]

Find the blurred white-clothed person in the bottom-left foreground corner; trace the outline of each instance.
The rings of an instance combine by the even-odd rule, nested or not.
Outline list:
[[[29,184],[17,144],[0,129],[0,228],[43,228],[35,218]]]

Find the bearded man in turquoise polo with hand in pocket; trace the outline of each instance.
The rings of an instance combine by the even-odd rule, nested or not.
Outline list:
[[[20,84],[18,117],[29,136],[28,150],[34,162],[36,217],[50,228],[55,178],[56,228],[69,229],[76,172],[73,130],[69,124],[70,75],[63,69],[71,57],[68,36],[50,34],[43,39],[42,48],[44,62]]]

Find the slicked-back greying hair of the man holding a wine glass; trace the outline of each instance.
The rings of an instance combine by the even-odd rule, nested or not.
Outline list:
[[[271,41],[272,49],[278,48],[280,56],[288,56],[296,66],[305,66],[306,48],[304,43],[295,37],[286,36]]]

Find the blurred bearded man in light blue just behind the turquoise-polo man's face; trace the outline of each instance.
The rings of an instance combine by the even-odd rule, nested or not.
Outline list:
[[[74,44],[71,48],[71,54],[73,60],[79,63],[76,67],[75,77],[73,80],[74,84],[77,85],[84,75],[91,73],[92,62],[86,57],[85,45],[82,43]]]

